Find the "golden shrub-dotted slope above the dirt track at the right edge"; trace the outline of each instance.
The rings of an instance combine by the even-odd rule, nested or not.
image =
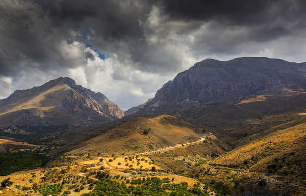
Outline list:
[[[285,176],[289,171],[293,176],[305,175],[306,118],[284,123],[248,139],[249,143],[225,153],[212,164]]]

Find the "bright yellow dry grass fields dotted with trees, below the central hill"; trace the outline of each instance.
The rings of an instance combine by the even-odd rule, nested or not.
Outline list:
[[[70,165],[69,168],[66,165],[66,166],[62,166],[62,167],[38,168],[38,169],[34,169],[34,170],[20,171],[20,172],[15,172],[13,174],[10,174],[8,176],[0,176],[0,181],[10,177],[11,181],[13,181],[13,186],[17,185],[17,186],[20,186],[20,187],[23,187],[23,186],[31,187],[33,183],[44,184],[41,181],[40,178],[45,176],[45,174],[48,173],[48,172],[54,172],[55,171],[54,176],[51,179],[57,179],[58,175],[63,175],[63,177],[67,177],[69,175],[80,176],[83,173],[82,168],[84,168],[84,167],[89,169],[89,170],[98,171],[98,170],[100,170],[101,166],[104,165],[105,166],[104,172],[107,172],[111,176],[116,176],[116,175],[124,176],[127,179],[156,176],[156,177],[161,178],[161,179],[162,178],[169,178],[170,181],[171,181],[172,178],[174,178],[174,181],[173,182],[171,181],[170,183],[187,182],[189,187],[193,187],[193,185],[198,182],[197,180],[192,179],[192,178],[159,172],[158,170],[162,170],[162,168],[160,168],[159,166],[156,166],[155,164],[149,164],[149,163],[152,162],[152,160],[150,158],[144,157],[144,156],[139,156],[138,158],[136,158],[136,156],[135,156],[134,159],[132,159],[131,161],[127,157],[127,163],[129,165],[130,164],[133,165],[133,170],[132,170],[132,172],[129,172],[129,173],[123,172],[123,170],[129,169],[128,166],[125,166],[125,164],[123,164],[123,162],[125,163],[125,157],[117,157],[112,162],[107,162],[106,160],[109,160],[110,158],[114,159],[114,157],[94,157],[93,159],[90,159],[90,160],[82,160],[82,159],[84,159],[84,157],[85,156],[78,157],[76,159],[76,161],[74,161],[75,165]],[[103,162],[100,162],[100,158],[104,159]],[[143,161],[141,161],[142,158],[144,159]],[[140,165],[143,165],[143,167],[142,167],[143,170],[141,171],[141,173],[138,173],[140,171],[140,165],[137,166],[137,159],[140,159],[140,161],[139,161]],[[145,162],[146,160],[147,160],[147,162]],[[134,163],[133,163],[133,161],[134,161]],[[122,164],[118,165],[118,162],[122,162]],[[117,168],[117,166],[119,166],[119,167]],[[151,171],[152,166],[156,167],[156,170],[157,170],[156,172]],[[66,172],[64,174],[61,174],[60,173],[61,169],[65,169]],[[44,170],[44,171],[42,171],[42,170]],[[146,170],[149,170],[149,171],[146,171]],[[86,175],[87,174],[85,174],[85,176]],[[91,175],[90,178],[95,178],[95,175]],[[30,179],[32,180],[32,182],[29,181]],[[48,179],[45,182],[45,184],[60,183],[60,181],[57,181],[57,182],[53,183],[53,182],[50,181],[51,179]],[[120,180],[120,179],[112,179],[112,180],[116,180],[118,182],[123,181],[123,180]],[[80,179],[79,179],[79,181],[80,181]],[[65,190],[68,190],[68,186],[70,186],[70,185],[72,185],[72,184],[71,183],[70,184],[64,184],[62,192],[64,192]],[[73,195],[81,195],[83,193],[89,192],[90,191],[90,190],[88,190],[89,185],[86,184],[84,186],[85,186],[85,189],[81,190],[78,193],[73,192],[73,190],[70,190],[70,191]],[[15,191],[4,190],[3,192],[5,193],[5,195],[16,195],[18,193],[20,193],[20,194],[25,194],[26,193],[25,191],[21,191],[21,190],[17,190],[17,189],[15,189]],[[39,194],[38,193],[32,193],[31,195],[39,195]]]

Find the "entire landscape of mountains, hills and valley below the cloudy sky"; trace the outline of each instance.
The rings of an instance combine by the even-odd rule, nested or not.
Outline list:
[[[1,191],[304,195],[302,66],[207,59],[125,112],[69,78],[16,91],[0,100]]]

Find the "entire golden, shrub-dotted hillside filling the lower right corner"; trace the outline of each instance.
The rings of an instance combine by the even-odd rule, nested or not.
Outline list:
[[[264,181],[265,188],[274,193],[303,195],[306,189],[305,117],[246,137],[241,143],[246,144],[224,153],[209,165],[238,171],[236,182],[240,181],[248,189],[259,190],[263,188],[260,182]]]

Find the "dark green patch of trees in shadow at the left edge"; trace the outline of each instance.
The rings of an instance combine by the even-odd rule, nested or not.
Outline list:
[[[49,160],[49,157],[39,154],[39,151],[0,153],[0,176],[9,175],[25,169],[41,167]]]

